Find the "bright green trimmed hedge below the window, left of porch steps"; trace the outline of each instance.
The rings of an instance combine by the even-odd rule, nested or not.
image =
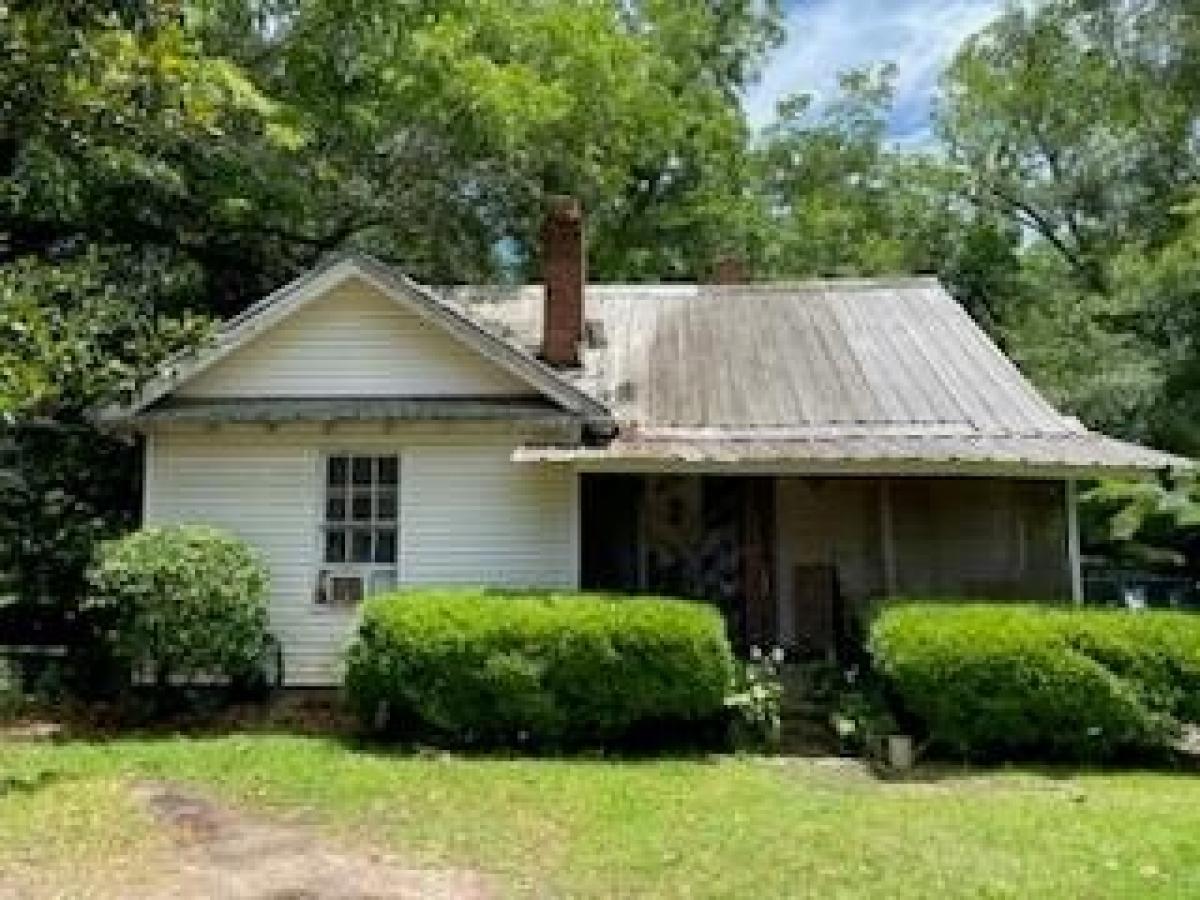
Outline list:
[[[364,605],[346,691],[367,727],[410,737],[612,745],[720,721],[732,679],[725,625],[708,606],[413,590]]]

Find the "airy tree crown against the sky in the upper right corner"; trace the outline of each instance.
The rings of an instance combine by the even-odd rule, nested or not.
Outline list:
[[[1124,242],[1169,236],[1171,198],[1200,176],[1200,85],[1181,71],[1198,16],[1170,0],[1012,7],[947,72],[941,130],[973,199],[1045,241],[1082,288],[1106,290]]]

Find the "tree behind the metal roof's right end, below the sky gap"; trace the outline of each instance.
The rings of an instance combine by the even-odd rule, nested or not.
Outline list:
[[[780,104],[758,150],[770,210],[767,272],[781,277],[936,272],[997,330],[1015,293],[1020,232],[962,198],[928,149],[888,145],[895,68],[847,72],[820,112]]]

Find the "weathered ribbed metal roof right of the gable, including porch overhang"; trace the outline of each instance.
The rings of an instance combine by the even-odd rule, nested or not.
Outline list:
[[[540,286],[445,295],[538,347]],[[618,436],[521,458],[1187,463],[1060,414],[935,278],[589,286],[584,318],[572,377]]]

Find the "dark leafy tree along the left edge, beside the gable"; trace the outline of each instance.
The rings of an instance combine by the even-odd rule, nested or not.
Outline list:
[[[240,210],[298,136],[169,2],[0,4],[0,572],[70,612],[92,542],[138,503],[136,456],[88,413],[256,271],[274,239]]]

